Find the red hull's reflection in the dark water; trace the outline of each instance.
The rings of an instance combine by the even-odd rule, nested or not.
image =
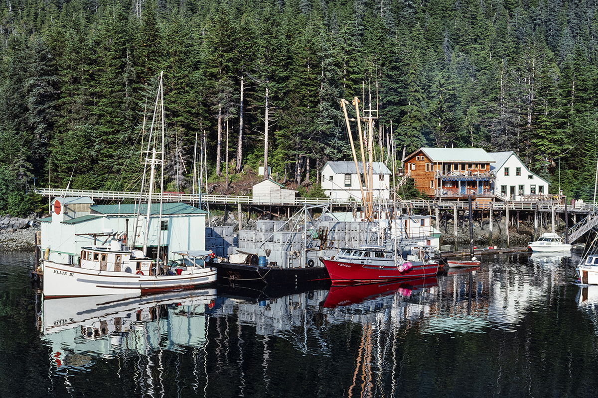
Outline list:
[[[393,280],[391,282],[379,283],[355,283],[353,285],[332,285],[326,296],[324,307],[334,308],[339,306],[350,306],[399,292],[402,295],[410,295],[411,291],[438,286],[435,276],[410,279]]]

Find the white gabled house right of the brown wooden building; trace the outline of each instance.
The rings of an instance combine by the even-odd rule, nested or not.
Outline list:
[[[512,150],[489,153],[496,163],[495,194],[504,200],[524,200],[548,195],[548,181],[531,172]]]

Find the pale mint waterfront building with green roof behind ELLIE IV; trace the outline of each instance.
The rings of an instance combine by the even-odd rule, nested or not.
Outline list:
[[[94,205],[90,198],[56,198],[51,203],[50,217],[41,221],[41,251],[58,263],[77,263],[81,248],[103,243],[109,234],[126,239],[127,245],[141,248],[145,233],[145,217],[139,217],[135,230],[138,205]],[[141,215],[147,211],[141,205]],[[204,250],[206,242],[206,211],[185,203],[152,203],[149,218],[148,253],[152,257],[160,235],[161,252],[169,260],[173,252]],[[126,236],[125,236],[126,235]]]

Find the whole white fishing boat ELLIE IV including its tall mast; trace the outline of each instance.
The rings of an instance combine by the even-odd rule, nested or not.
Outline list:
[[[216,281],[216,269],[208,267],[202,257],[210,254],[208,251],[179,252],[184,255],[181,261],[169,264],[161,263],[160,230],[158,230],[157,254],[152,260],[146,254],[148,249],[149,224],[155,166],[164,167],[164,104],[162,101],[162,79],[158,86],[158,95],[154,107],[154,122],[149,133],[147,150],[145,150],[144,176],[150,169],[149,188],[144,193],[141,189],[140,198],[147,198],[147,215],[145,215],[145,233],[142,249],[136,249],[136,242],[126,246],[126,232],[114,234],[109,231],[108,239],[102,245],[86,246],[81,249],[77,261],[67,264],[57,263],[45,258],[42,261],[43,289],[45,298],[80,297],[106,294],[143,295],[155,292],[193,289],[206,283]],[[159,128],[161,127],[161,146],[157,143]],[[163,183],[160,191],[163,192]],[[140,200],[141,202],[141,200]],[[138,206],[141,212],[142,206]],[[162,204],[160,203],[161,224]],[[141,222],[140,214],[136,218]],[[140,245],[141,246],[141,245]],[[191,260],[193,258],[193,260]],[[199,259],[199,260],[198,260]]]

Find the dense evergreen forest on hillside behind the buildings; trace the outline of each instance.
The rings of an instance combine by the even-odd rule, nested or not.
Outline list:
[[[137,190],[160,72],[169,190],[198,159],[212,181],[266,161],[317,184],[351,159],[359,97],[376,161],[514,150],[593,199],[598,0],[1,0],[0,38],[2,212],[33,186]]]

